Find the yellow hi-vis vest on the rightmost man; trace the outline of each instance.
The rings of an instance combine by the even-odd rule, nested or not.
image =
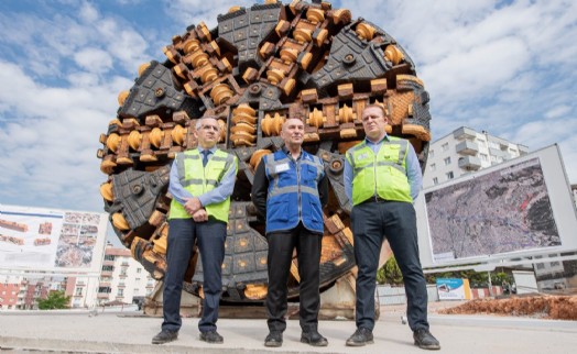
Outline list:
[[[347,151],[347,161],[352,167],[353,206],[373,196],[413,202],[406,177],[409,144],[404,139],[389,136],[377,155],[364,141]]]

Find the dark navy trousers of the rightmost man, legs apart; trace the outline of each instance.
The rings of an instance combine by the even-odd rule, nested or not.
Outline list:
[[[366,202],[352,208],[357,275],[357,328],[374,328],[374,289],[379,255],[389,240],[403,274],[411,330],[428,329],[426,281],[418,259],[416,217],[409,202]]]

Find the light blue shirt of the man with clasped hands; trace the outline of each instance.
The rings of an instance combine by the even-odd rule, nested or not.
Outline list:
[[[203,154],[203,151],[205,151],[203,147],[198,146],[198,152],[200,155]],[[208,155],[208,159],[213,158],[213,155],[217,151],[217,147],[214,146],[209,150],[210,154]],[[236,180],[236,173],[237,169],[235,168],[235,165],[229,168],[227,174],[222,177],[222,180],[220,181],[220,185],[218,185],[215,189],[207,191],[200,196],[193,196],[188,190],[184,189],[183,185],[181,185],[181,176],[178,176],[178,168],[176,167],[176,158],[172,163],[171,168],[171,181],[168,184],[168,191],[173,196],[173,198],[179,202],[181,204],[185,204],[186,198],[194,198],[197,197],[200,200],[200,203],[204,206],[221,202],[225,199],[227,199],[230,195],[232,195],[232,191],[235,190],[235,180]]]

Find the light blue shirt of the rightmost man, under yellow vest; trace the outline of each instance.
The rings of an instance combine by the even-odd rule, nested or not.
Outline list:
[[[374,154],[379,152],[383,141],[389,141],[389,135],[384,134],[384,137],[378,142],[373,143],[369,139],[364,137],[367,146],[372,148]],[[347,198],[352,201],[352,167],[349,164],[349,161],[345,158],[345,193]],[[421,165],[418,164],[418,157],[416,156],[415,150],[412,144],[409,144],[409,151],[406,154],[406,177],[409,179],[409,185],[411,186],[411,197],[413,201],[418,197],[421,187],[423,187],[423,175],[421,174]]]

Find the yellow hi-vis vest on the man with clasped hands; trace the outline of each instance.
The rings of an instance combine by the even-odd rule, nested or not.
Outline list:
[[[237,168],[237,158],[224,151],[217,150],[208,161],[206,167],[203,166],[203,157],[197,148],[189,150],[176,155],[176,168],[181,185],[193,196],[198,197],[207,191],[215,189],[222,177],[230,168]],[[230,197],[221,202],[204,206],[208,217],[216,220],[228,222],[228,211],[230,209]],[[175,199],[171,202],[171,214],[168,219],[192,218],[184,207]]]

